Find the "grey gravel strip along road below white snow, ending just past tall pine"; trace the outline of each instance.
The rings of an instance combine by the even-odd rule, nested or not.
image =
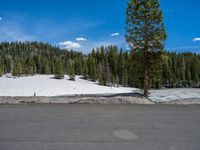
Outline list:
[[[155,104],[140,94],[0,97],[0,104]]]

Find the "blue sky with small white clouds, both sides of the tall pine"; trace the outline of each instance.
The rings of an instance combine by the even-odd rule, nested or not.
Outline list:
[[[128,0],[2,0],[0,41],[43,41],[88,52],[100,45],[126,48]],[[200,1],[160,0],[166,49],[200,50]],[[195,39],[195,40],[194,40]]]

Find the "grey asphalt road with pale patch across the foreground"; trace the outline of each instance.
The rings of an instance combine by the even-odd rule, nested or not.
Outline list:
[[[0,150],[200,150],[200,106],[0,105]]]

